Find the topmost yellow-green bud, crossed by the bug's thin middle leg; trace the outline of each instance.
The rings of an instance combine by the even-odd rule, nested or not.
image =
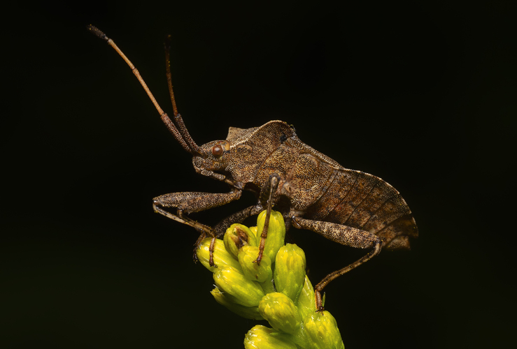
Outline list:
[[[260,245],[262,230],[266,221],[267,211],[260,212],[257,218],[257,246]],[[275,260],[278,249],[284,244],[285,239],[285,223],[282,214],[278,211],[271,211],[269,217],[269,228],[267,230],[266,245],[264,246],[264,254],[268,255],[271,260]]]

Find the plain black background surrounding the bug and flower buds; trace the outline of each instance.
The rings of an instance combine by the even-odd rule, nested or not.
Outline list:
[[[326,288],[346,348],[514,341],[513,1],[24,3],[3,10],[1,348],[243,348],[255,321],[212,299],[197,234],[153,213],[201,177],[126,64],[199,144],[271,119],[395,186],[420,238]],[[7,62],[5,61],[7,60]],[[215,223],[246,207],[194,217]],[[292,230],[313,283],[358,258]]]

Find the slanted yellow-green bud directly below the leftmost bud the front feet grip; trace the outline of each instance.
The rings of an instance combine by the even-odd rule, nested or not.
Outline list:
[[[257,306],[264,297],[259,283],[248,280],[242,272],[232,267],[219,267],[213,274],[213,281],[222,292],[233,296],[235,303],[243,306]]]

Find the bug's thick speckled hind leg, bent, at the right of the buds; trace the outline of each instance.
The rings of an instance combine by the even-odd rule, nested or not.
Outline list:
[[[292,217],[292,225],[298,229],[307,229],[312,230],[313,232],[317,232],[320,235],[323,235],[327,239],[330,239],[334,242],[339,242],[339,244],[355,247],[355,248],[372,248],[372,250],[364,255],[364,257],[356,260],[350,265],[339,269],[335,272],[332,272],[325,276],[318,285],[314,288],[314,295],[316,301],[316,309],[318,311],[323,311],[323,304],[321,302],[321,292],[326,285],[330,283],[330,281],[337,279],[339,276],[350,272],[350,270],[354,269],[362,265],[362,263],[366,262],[370,258],[378,255],[381,252],[382,240],[375,234],[371,232],[367,232],[366,230],[361,230],[357,228],[348,227],[347,225],[323,222],[323,221],[311,221],[309,219]]]

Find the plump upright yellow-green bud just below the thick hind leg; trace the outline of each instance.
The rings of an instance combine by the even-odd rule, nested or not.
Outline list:
[[[305,266],[305,253],[302,248],[295,244],[286,244],[278,250],[274,273],[276,290],[295,303],[298,302],[304,286]]]

